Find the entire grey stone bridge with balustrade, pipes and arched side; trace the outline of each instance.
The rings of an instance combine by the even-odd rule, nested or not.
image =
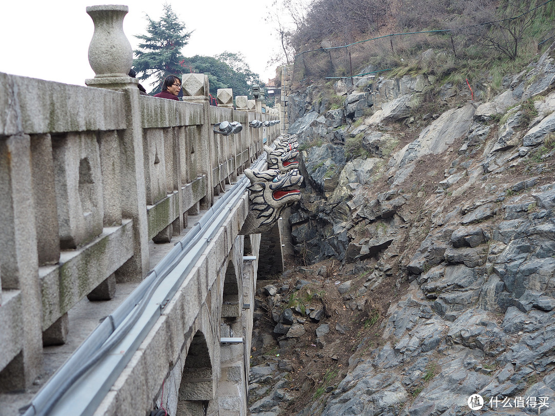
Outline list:
[[[183,75],[183,102],[139,95],[127,7],[88,13],[88,87],[0,73],[0,413],[244,415],[258,260],[283,257],[277,226],[239,235],[249,200],[232,185],[280,134],[249,122],[279,114],[236,110],[230,90],[210,106],[204,74]],[[222,121],[243,129],[215,134]],[[83,305],[105,319],[77,348]]]

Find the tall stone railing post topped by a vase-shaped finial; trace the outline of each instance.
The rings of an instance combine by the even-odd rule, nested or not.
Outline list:
[[[128,76],[133,64],[133,49],[123,33],[123,18],[128,11],[127,6],[113,4],[87,7],[87,13],[94,22],[94,34],[89,45],[89,63],[95,76],[85,80],[85,84],[88,87],[123,92],[127,108],[127,128],[123,131],[123,143],[120,146],[120,184],[122,215],[133,220],[134,255],[117,271],[118,281],[142,280],[149,268],[139,89],[138,80]],[[104,161],[101,160],[101,163]]]

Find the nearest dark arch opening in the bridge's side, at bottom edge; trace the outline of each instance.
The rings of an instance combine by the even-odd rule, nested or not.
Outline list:
[[[177,415],[205,414],[214,398],[214,371],[203,332],[197,331],[185,358],[179,384]],[[196,409],[196,410],[194,410]],[[194,410],[194,411],[192,411]]]

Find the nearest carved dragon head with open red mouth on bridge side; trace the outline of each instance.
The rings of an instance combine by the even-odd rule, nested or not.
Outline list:
[[[283,210],[301,199],[299,187],[303,177],[292,169],[280,174],[277,169],[265,171],[245,169],[250,180],[249,214],[240,234],[268,231],[278,221]]]

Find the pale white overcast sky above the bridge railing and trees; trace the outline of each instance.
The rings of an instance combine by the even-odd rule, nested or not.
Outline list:
[[[268,82],[275,68],[266,68],[279,43],[265,23],[272,0],[167,0],[187,31],[194,31],[182,52],[214,56],[242,53],[250,69]],[[85,8],[96,4],[125,4],[129,13],[123,30],[133,49],[137,34],[146,34],[145,13],[158,21],[163,0],[102,2],[95,0],[4,0],[0,6],[0,72],[84,85],[94,72],[88,48],[94,24]],[[150,88],[145,85],[147,90]]]

